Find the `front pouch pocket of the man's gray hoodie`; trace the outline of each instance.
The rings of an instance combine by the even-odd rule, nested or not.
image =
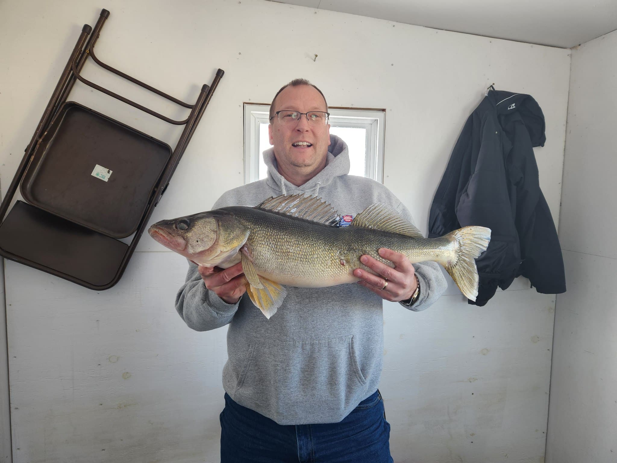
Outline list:
[[[235,395],[275,420],[318,420],[320,412],[349,410],[365,385],[353,335],[325,340],[253,338]]]

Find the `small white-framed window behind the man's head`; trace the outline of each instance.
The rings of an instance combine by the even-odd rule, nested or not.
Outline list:
[[[268,140],[267,104],[244,104],[244,183],[267,176],[262,152]],[[349,147],[350,175],[361,175],[383,183],[383,146],[386,113],[381,109],[329,108],[330,134]]]

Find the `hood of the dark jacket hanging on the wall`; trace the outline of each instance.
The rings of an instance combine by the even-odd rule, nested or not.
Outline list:
[[[505,127],[511,115],[517,114],[523,120],[532,146],[544,146],[546,141],[544,114],[537,101],[524,93],[513,93],[511,91],[493,90],[489,91],[486,99],[491,102],[491,106],[497,111],[497,117],[502,127]]]

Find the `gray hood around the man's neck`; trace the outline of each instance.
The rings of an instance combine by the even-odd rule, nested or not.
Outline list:
[[[309,193],[315,196],[319,193],[320,187],[329,185],[336,177],[347,175],[350,165],[347,143],[336,135],[330,135],[326,167],[315,175],[315,177],[304,183],[304,185],[296,186],[293,183],[289,183],[289,181],[285,180],[283,175],[278,173],[274,147],[268,148],[263,152],[263,162],[265,162],[265,165],[268,167],[267,183],[271,188],[283,194]]]

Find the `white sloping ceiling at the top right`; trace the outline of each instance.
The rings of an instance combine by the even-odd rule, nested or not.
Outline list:
[[[617,29],[617,0],[270,1],[559,48]]]

